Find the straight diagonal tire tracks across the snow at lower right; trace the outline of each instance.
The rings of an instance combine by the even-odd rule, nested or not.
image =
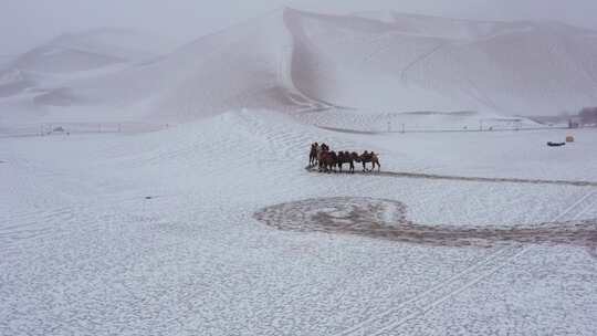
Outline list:
[[[597,191],[594,190],[586,193],[562,213],[556,216],[552,222],[563,219],[576,209],[579,210],[576,211],[573,219],[579,218],[594,204],[595,200],[591,200],[590,198]],[[488,279],[509,263],[521,258],[532,248],[533,245],[523,246],[522,244],[514,244],[499,249],[486,258],[482,259],[476,264],[473,264],[464,271],[451,276],[447,281],[440,282],[430,290],[413,296],[412,298],[386,311],[378,316],[365,319],[353,327],[336,334],[336,336],[396,335],[396,328],[400,327],[412,318],[425,315],[427,312],[433,309],[443,302]],[[392,316],[398,316],[398,318],[392,318]]]

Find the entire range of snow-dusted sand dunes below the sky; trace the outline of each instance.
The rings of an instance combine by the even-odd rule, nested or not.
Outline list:
[[[553,22],[283,9],[171,52],[137,35],[65,35],[21,55],[0,77],[0,117],[185,122],[248,107],[493,118],[597,98],[597,32]]]

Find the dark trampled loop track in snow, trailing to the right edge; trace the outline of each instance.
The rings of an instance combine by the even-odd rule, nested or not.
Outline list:
[[[300,232],[344,233],[411,243],[491,246],[499,242],[597,244],[597,220],[536,225],[425,225],[407,218],[399,201],[363,197],[313,198],[266,207],[254,218],[270,227]]]

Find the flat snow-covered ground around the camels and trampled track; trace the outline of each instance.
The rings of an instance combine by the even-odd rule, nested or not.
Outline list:
[[[384,171],[546,181],[314,174],[315,140],[375,150]],[[596,146],[590,129],[357,134],[251,109],[2,138],[0,335],[595,335],[595,245],[406,243],[254,213],[363,197],[437,228],[595,228],[597,188],[548,181],[597,181]]]

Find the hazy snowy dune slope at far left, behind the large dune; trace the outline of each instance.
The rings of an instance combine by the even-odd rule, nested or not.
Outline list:
[[[174,48],[167,39],[125,29],[63,34],[0,66],[0,99],[20,97],[21,105],[25,105],[23,112],[35,106],[86,104],[73,93],[73,81],[118,72],[155,60]]]

